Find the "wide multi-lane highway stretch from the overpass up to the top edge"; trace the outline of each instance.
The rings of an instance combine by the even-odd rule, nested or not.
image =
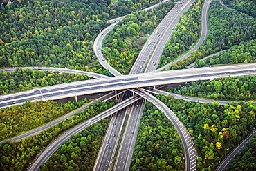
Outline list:
[[[175,28],[183,12],[188,10],[190,4],[192,4],[194,1],[180,2],[184,3],[176,4],[149,37],[145,43],[145,46],[140,51],[134,66],[131,68],[130,74],[152,72],[156,68],[163,52],[163,48],[165,47],[165,43],[167,43],[171,36],[173,30],[172,28]],[[154,54],[152,54],[152,52],[154,52]],[[149,60],[150,57],[152,57],[152,59]]]

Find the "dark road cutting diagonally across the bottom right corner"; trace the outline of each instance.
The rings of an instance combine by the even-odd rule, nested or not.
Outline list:
[[[232,152],[230,152],[228,154],[228,157],[226,157],[226,159],[224,159],[221,164],[218,166],[218,168],[216,169],[216,171],[222,171],[222,170],[225,170],[230,161],[232,161],[232,159],[234,159],[235,157],[235,154],[239,153],[243,148],[244,146],[246,145],[246,143],[248,143],[248,141],[250,141],[250,139],[253,138],[253,136],[256,134],[256,130],[254,130],[248,137],[246,137],[246,139],[244,139],[243,141],[241,141],[241,143],[239,143],[239,145],[237,145],[235,147],[234,150],[232,150]]]

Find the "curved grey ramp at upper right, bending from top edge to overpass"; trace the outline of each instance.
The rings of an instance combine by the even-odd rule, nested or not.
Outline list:
[[[194,48],[192,48],[192,50],[190,50],[188,53],[184,54],[183,57],[180,57],[176,61],[167,63],[167,65],[165,65],[161,68],[158,68],[157,70],[155,70],[156,72],[161,71],[163,69],[167,69],[170,66],[172,66],[172,63],[176,63],[177,61],[182,61],[183,59],[189,57],[192,52],[196,51],[199,48],[199,46],[201,46],[201,44],[203,43],[204,39],[207,37],[207,34],[208,34],[208,10],[209,10],[209,6],[210,6],[210,2],[211,2],[211,0],[205,0],[205,3],[203,5],[203,12],[202,12],[202,17],[201,17],[201,21],[202,21],[201,22],[201,26],[202,26],[201,36],[200,36],[199,41],[196,43],[196,46],[194,46]]]

